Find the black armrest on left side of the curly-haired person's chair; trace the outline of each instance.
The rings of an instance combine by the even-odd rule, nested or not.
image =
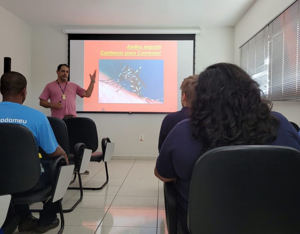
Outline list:
[[[175,183],[164,182],[166,220],[169,233],[177,233],[177,191]]]

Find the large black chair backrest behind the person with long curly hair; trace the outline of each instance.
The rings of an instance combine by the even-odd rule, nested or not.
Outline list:
[[[300,152],[280,146],[209,150],[190,186],[191,234],[300,233]]]

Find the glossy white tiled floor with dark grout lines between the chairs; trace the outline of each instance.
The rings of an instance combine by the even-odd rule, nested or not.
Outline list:
[[[154,176],[155,161],[112,160],[109,182],[102,190],[84,190],[82,202],[73,212],[64,213],[64,234],[167,234],[163,183]],[[90,162],[89,175],[82,175],[84,187],[103,184],[104,163]],[[71,186],[78,186],[78,181]],[[63,207],[79,198],[78,190],[68,190]],[[41,207],[41,203],[31,207]],[[38,217],[38,213],[34,213]],[[56,234],[59,227],[47,233]],[[18,233],[17,231],[15,233]],[[31,234],[35,232],[22,232]]]

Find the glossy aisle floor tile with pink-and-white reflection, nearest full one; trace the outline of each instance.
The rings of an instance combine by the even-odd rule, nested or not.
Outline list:
[[[100,226],[157,227],[157,210],[109,209]]]

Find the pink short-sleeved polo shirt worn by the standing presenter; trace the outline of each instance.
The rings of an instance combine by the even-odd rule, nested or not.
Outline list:
[[[62,90],[64,90],[66,83],[60,83],[60,86]],[[52,81],[46,85],[46,87],[43,90],[43,93],[39,96],[39,99],[44,99],[45,101],[48,101],[48,99],[50,99],[50,102],[61,101],[61,104],[64,107],[60,110],[51,108],[52,117],[63,119],[65,115],[69,114],[73,115],[74,117],[77,117],[76,94],[78,94],[78,96],[82,98],[82,93],[84,93],[86,90],[80,87],[78,84],[68,81],[67,87],[64,90],[64,94],[66,95],[67,99],[63,100],[61,96],[61,88],[57,84],[56,80]]]

